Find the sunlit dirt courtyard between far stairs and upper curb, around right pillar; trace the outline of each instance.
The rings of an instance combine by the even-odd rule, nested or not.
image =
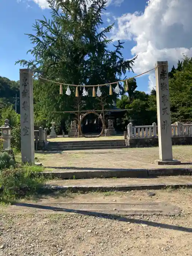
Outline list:
[[[161,166],[154,163],[159,158],[158,147],[41,152],[35,157],[43,166],[61,170],[191,168],[191,150],[192,146],[173,146],[173,158],[183,164]]]

